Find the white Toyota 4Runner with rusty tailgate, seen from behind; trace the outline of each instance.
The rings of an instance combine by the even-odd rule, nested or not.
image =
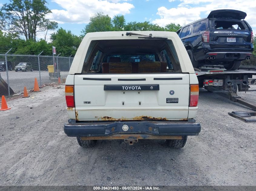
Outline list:
[[[166,139],[184,147],[198,135],[198,80],[175,32],[87,33],[66,80],[68,136],[97,140]]]

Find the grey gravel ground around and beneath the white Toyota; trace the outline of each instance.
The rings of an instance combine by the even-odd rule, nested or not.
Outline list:
[[[256,103],[255,92],[239,94]],[[256,125],[228,115],[250,110],[205,90],[201,133],[181,149],[163,140],[81,148],[63,132],[64,89],[45,87],[8,106],[0,113],[0,185],[256,185]]]

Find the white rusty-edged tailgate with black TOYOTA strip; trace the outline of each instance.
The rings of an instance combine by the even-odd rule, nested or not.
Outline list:
[[[76,119],[79,121],[187,119],[189,74],[159,76],[159,74],[75,75]]]

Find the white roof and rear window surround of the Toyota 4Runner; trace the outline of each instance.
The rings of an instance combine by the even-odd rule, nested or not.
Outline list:
[[[171,40],[176,53],[179,58],[181,71],[185,73],[194,74],[194,68],[191,64],[191,61],[188,57],[186,49],[181,42],[179,36],[175,32],[166,32],[166,31],[111,31],[111,32],[95,32],[95,33],[87,33],[82,40],[78,50],[73,59],[71,68],[69,70],[70,75],[80,74],[84,65],[85,56],[87,50],[90,46],[91,41],[93,40],[140,40],[141,36],[138,35],[126,35],[126,32],[137,33],[140,35],[150,35],[152,37],[166,37]],[[151,40],[151,39],[149,39]],[[178,47],[178,48],[177,48]]]

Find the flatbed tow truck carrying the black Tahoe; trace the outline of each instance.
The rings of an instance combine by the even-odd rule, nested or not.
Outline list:
[[[201,68],[194,68],[194,70],[198,77],[199,88],[217,93],[256,111],[255,103],[249,103],[237,95],[237,91],[256,91],[256,89],[249,89],[252,85],[256,85],[256,79],[253,79],[253,75],[256,75],[256,68],[240,66],[238,70],[226,70],[221,65],[205,65]],[[256,122],[256,119],[243,118],[256,116],[256,112],[228,114],[245,122]]]

